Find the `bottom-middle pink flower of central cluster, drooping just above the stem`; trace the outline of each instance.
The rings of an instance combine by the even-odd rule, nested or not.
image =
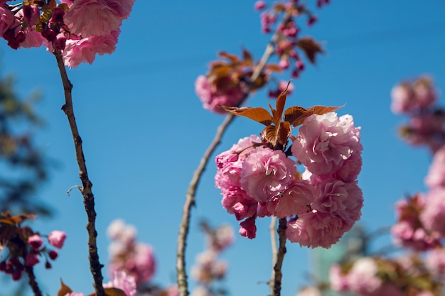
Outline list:
[[[267,209],[278,218],[308,212],[313,202],[314,188],[306,180],[296,180],[279,196],[267,202]]]

